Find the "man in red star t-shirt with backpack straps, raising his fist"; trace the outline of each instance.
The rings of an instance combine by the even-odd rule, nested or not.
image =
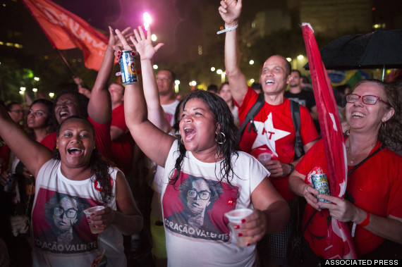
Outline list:
[[[245,120],[250,108],[257,101],[257,93],[247,85],[247,80],[240,70],[240,53],[238,52],[237,30],[241,12],[241,1],[226,1],[219,8],[219,13],[225,22],[225,66],[226,75],[231,85],[231,94],[239,109],[240,124]],[[264,106],[254,118],[255,130],[245,130],[240,141],[243,151],[256,158],[262,153],[271,154],[270,161],[264,163],[271,175],[269,179],[291,206],[291,221],[279,234],[270,234],[268,244],[262,245],[263,254],[269,254],[272,265],[288,264],[286,247],[291,235],[293,214],[296,210],[296,196],[288,188],[288,175],[296,166],[294,156],[295,130],[291,116],[290,101],[284,97],[286,85],[291,81],[291,65],[282,56],[271,56],[265,61],[260,75]],[[305,151],[310,149],[318,138],[317,130],[309,111],[300,106],[300,135]],[[246,126],[248,129],[250,125]],[[267,247],[265,247],[267,246]],[[268,252],[268,253],[267,253]]]

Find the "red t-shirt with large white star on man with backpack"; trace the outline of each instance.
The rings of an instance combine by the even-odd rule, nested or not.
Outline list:
[[[252,105],[257,101],[257,98],[258,94],[248,87],[243,104],[241,106],[236,104],[238,106],[240,125],[245,120],[245,116]],[[255,158],[263,152],[268,152],[272,154],[273,160],[279,160],[281,163],[291,163],[295,156],[295,128],[291,116],[291,102],[286,98],[283,103],[276,106],[265,102],[254,119],[257,132],[253,130],[247,132],[248,125],[246,126],[240,141],[241,150],[255,156]],[[317,130],[309,111],[304,106],[300,106],[300,121],[300,135],[303,145],[317,139]],[[288,176],[269,179],[284,199],[290,200],[296,197],[289,190]]]

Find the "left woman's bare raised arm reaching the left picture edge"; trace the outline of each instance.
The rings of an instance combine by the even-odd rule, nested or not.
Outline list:
[[[6,108],[1,104],[0,136],[35,177],[42,165],[51,159],[51,151],[30,138],[19,125],[14,123]]]

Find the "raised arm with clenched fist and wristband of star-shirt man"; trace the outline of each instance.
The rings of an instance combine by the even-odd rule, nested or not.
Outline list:
[[[225,22],[225,27],[238,25],[241,13],[242,0],[224,0],[219,6],[219,14]],[[225,68],[226,75],[231,85],[231,94],[237,104],[243,104],[243,99],[248,90],[247,80],[240,70],[240,51],[237,39],[238,29],[226,32],[225,37]]]

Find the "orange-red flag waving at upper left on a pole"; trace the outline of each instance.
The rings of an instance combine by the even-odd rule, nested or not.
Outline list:
[[[22,0],[57,49],[83,50],[85,66],[99,70],[108,43],[106,36],[82,18],[49,0]]]

